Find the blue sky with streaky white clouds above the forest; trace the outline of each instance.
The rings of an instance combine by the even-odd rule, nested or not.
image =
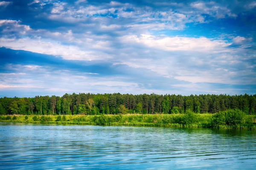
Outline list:
[[[256,94],[256,1],[0,1],[0,97],[66,93]]]

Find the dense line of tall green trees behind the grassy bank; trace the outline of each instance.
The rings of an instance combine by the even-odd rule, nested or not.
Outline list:
[[[64,94],[63,96],[2,97],[0,114],[36,115],[99,115],[99,114],[171,114],[193,111],[217,113],[239,109],[256,114],[256,94],[226,95],[202,94],[182,96],[175,94]]]

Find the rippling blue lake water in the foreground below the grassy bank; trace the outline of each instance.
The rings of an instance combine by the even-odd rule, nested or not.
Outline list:
[[[0,123],[0,169],[256,169],[256,131]]]

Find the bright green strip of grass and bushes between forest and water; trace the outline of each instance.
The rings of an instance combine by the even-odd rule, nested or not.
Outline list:
[[[240,111],[241,112],[241,111]],[[131,114],[131,115],[95,115],[95,116],[17,116],[17,121],[12,116],[0,116],[0,122],[30,122],[30,123],[58,123],[79,125],[131,125],[131,126],[158,126],[158,127],[215,127],[215,128],[243,128],[256,129],[256,116],[244,115],[239,111],[221,111],[216,114],[198,114],[187,110],[184,114]],[[227,122],[226,116],[229,122]],[[52,121],[67,119],[66,121]],[[241,119],[241,117],[243,117]],[[9,119],[9,120],[6,120]],[[53,119],[53,120],[55,120]],[[32,121],[33,120],[33,121]],[[37,120],[37,121],[35,121]],[[215,123],[215,124],[214,124]],[[238,124],[239,123],[239,124]]]

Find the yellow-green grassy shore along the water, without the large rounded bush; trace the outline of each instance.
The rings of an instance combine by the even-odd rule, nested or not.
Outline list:
[[[74,124],[74,125],[125,125],[151,127],[207,127],[256,130],[256,116],[245,115],[236,125],[216,124],[214,114],[130,114],[130,115],[63,115],[63,116],[0,116],[0,122]]]

